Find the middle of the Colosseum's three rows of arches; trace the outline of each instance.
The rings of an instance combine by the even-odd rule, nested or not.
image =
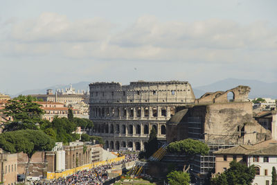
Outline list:
[[[152,125],[157,134],[166,134],[166,125],[160,126],[160,132],[157,125]],[[136,125],[120,125],[120,124],[108,124],[108,123],[95,123],[93,132],[103,134],[150,134],[150,126],[148,124],[136,124]]]

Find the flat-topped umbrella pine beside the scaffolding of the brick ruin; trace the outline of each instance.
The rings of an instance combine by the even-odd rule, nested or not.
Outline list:
[[[186,155],[184,171],[190,168],[190,161],[193,160],[195,155],[208,155],[209,148],[206,143],[194,139],[184,139],[175,141],[168,145],[167,151],[177,155]]]

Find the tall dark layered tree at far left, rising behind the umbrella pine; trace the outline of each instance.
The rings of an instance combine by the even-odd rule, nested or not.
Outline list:
[[[36,123],[42,121],[44,110],[42,105],[33,102],[32,96],[18,96],[15,99],[8,100],[6,107],[1,110],[3,114],[12,117],[12,121],[5,123],[4,132],[32,129],[37,130]]]

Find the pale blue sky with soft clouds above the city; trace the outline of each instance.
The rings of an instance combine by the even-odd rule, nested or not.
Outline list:
[[[0,92],[80,81],[277,82],[276,0],[2,0]]]

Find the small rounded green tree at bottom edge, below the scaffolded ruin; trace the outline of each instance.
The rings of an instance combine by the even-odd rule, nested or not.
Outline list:
[[[168,177],[168,183],[174,185],[189,185],[190,175],[182,171],[172,171],[166,176]]]

